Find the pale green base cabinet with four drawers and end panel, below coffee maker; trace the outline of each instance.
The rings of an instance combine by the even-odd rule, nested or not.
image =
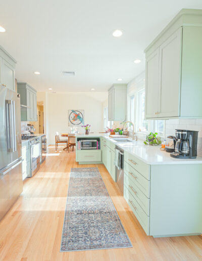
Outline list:
[[[145,233],[201,234],[202,164],[148,165],[128,152],[124,155],[124,197]]]

